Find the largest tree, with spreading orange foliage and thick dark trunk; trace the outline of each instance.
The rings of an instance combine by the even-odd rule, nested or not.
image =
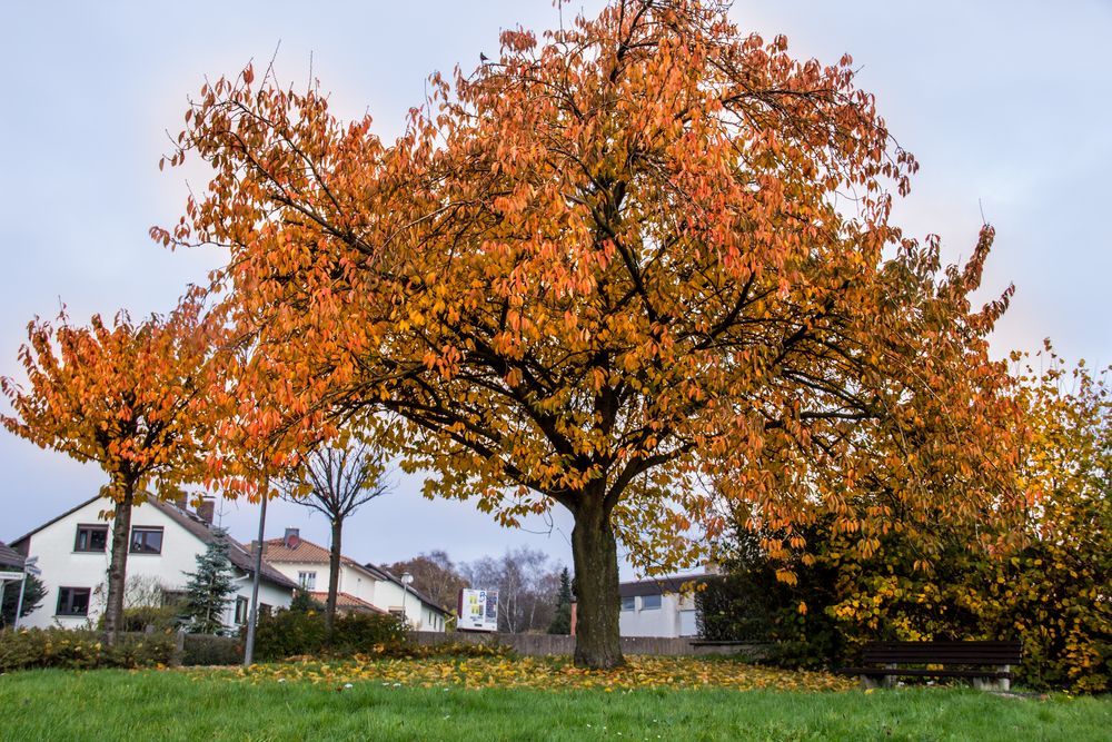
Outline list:
[[[619,542],[649,572],[691,564],[745,503],[802,547],[821,504],[867,548],[886,505],[843,496],[866,481],[999,511],[1010,409],[984,337],[1006,295],[967,298],[992,234],[942,271],[890,224],[916,165],[848,57],[615,0],[506,31],[430,90],[391,145],[250,68],[186,113],[170,162],[214,178],[152,234],[230,250],[228,304],[284,379],[264,431],[389,419],[427,494],[508,525],[566,507],[590,666],[623,661]],[[967,498],[937,494],[954,479]]]

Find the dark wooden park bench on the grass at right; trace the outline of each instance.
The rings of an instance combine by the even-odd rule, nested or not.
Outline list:
[[[838,672],[860,675],[862,687],[892,687],[902,676],[970,677],[981,690],[1007,691],[1012,665],[1022,657],[1020,642],[872,642],[862,655],[866,666]],[[929,670],[926,665],[942,669]]]

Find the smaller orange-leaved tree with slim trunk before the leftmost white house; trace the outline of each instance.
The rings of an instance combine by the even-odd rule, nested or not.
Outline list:
[[[108,475],[112,546],[105,630],[115,639],[123,613],[131,508],[148,497],[173,497],[203,475],[208,427],[198,400],[208,388],[211,326],[201,305],[183,301],[168,316],[112,323],[93,316],[75,325],[28,325],[19,360],[27,386],[10,377],[0,388],[14,409],[4,427],[43,448],[95,462]]]

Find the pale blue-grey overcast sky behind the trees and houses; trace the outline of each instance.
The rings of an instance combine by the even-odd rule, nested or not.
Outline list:
[[[600,6],[576,2],[565,16]],[[1112,362],[1112,4],[766,0],[739,1],[732,14],[746,31],[785,33],[797,57],[853,56],[860,86],[922,164],[896,211],[910,234],[941,235],[957,259],[982,214],[996,227],[984,296],[1017,287],[999,355],[1051,337],[1068,357]],[[334,110],[370,111],[389,139],[430,72],[494,56],[500,28],[557,22],[549,0],[0,3],[0,375],[20,376],[28,320],[56,315],[59,300],[80,321],[121,307],[166,311],[219,264],[216,251],[170,254],[147,237],[181,214],[183,174],[157,164],[206,75],[259,67],[277,48],[279,77],[304,80],[311,59]],[[0,472],[3,541],[106,481],[6,432]],[[395,478],[393,494],[350,521],[350,556],[383,563],[443,548],[470,561],[529,546],[572,561],[566,514],[507,531],[468,503],[423,499],[417,477]],[[254,537],[255,507],[228,503],[222,517],[236,537]],[[288,525],[328,542],[319,515],[276,504],[268,537]]]

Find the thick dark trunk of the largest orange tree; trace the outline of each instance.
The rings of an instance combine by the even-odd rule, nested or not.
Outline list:
[[[602,495],[584,493],[575,511],[572,558],[575,563],[575,594],[578,622],[575,633],[575,664],[609,669],[625,664],[618,632],[618,550],[609,513]]]

